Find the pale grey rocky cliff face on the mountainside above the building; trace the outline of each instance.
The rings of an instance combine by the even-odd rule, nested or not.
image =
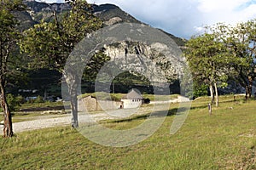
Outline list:
[[[184,59],[167,51],[170,49],[159,42],[126,41],[105,46],[104,53],[123,71],[143,74],[150,82],[174,82],[183,74]]]

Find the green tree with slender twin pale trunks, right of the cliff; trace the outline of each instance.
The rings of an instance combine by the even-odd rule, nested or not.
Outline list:
[[[186,43],[185,56],[188,59],[194,82],[208,85],[212,103],[216,97],[218,106],[218,85],[227,81],[228,73],[226,65],[233,62],[233,58],[222,42],[219,29],[211,29],[210,33],[204,33],[192,37]],[[215,92],[215,93],[214,93]]]

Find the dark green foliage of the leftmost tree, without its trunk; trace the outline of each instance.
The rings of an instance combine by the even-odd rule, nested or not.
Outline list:
[[[17,72],[17,60],[15,54],[15,42],[19,39],[17,30],[18,20],[15,18],[16,11],[25,10],[21,0],[3,0],[0,6],[0,76],[1,82],[5,83],[9,77]],[[9,62],[9,61],[12,62]]]

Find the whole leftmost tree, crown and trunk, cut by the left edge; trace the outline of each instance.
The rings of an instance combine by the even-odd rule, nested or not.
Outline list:
[[[2,0],[0,2],[0,100],[3,108],[3,136],[12,137],[12,117],[9,110],[6,94],[7,77],[11,58],[15,59],[12,50],[18,40],[19,31],[16,26],[15,12],[25,9],[21,0]]]

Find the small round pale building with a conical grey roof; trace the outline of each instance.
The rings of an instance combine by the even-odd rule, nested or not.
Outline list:
[[[132,88],[131,91],[126,94],[121,101],[124,103],[124,109],[137,108],[143,104],[143,96],[137,91],[137,89]]]

